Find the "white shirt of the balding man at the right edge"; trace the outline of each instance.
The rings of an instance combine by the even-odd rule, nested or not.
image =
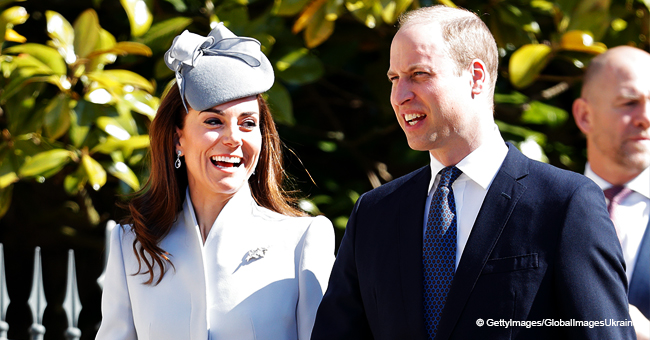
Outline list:
[[[611,183],[596,175],[589,163],[585,169],[585,176],[603,190],[612,186]],[[630,282],[641,239],[648,227],[648,220],[650,220],[650,168],[643,170],[639,176],[627,182],[625,186],[634,191],[616,207],[615,224],[625,258],[627,281]]]

